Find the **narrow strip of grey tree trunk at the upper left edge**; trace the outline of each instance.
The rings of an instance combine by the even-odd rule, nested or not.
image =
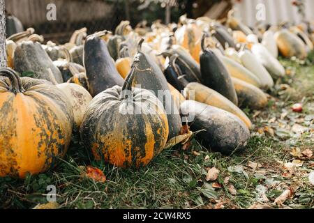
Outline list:
[[[6,14],[4,0],[0,0],[0,68],[6,67]]]

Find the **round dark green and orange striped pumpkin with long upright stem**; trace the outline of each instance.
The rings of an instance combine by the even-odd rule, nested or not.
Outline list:
[[[163,151],[169,134],[160,100],[146,89],[132,89],[137,63],[122,88],[114,86],[91,101],[80,130],[95,159],[117,167],[149,164]]]

